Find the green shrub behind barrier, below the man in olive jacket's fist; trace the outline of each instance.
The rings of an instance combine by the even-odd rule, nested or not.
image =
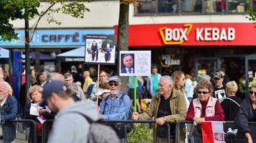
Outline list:
[[[148,124],[134,124],[134,128],[127,135],[128,142],[153,142],[152,129]]]

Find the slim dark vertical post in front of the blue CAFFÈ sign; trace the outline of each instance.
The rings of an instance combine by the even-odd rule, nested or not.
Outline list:
[[[26,94],[30,87],[30,61],[29,61],[29,17],[25,9],[25,70],[26,70]],[[29,102],[29,101],[27,101]]]

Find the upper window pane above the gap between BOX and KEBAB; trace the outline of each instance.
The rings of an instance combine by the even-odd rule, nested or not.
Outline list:
[[[183,13],[202,12],[201,0],[183,0],[181,1],[181,11]]]

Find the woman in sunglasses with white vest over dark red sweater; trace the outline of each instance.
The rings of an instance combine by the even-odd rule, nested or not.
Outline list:
[[[214,88],[211,82],[201,79],[196,86],[196,99],[189,104],[186,120],[201,124],[204,121],[223,121],[224,112],[219,100],[211,97]]]

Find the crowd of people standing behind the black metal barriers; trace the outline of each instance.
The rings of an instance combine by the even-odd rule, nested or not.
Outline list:
[[[53,98],[50,92],[53,90],[51,88],[56,85],[52,84],[53,87],[48,86],[45,89],[45,86],[52,81],[60,81],[66,88],[53,92],[68,91],[73,102],[89,99],[98,101],[96,109],[99,119],[155,119],[157,124],[154,127],[154,142],[166,142],[166,124],[171,125],[171,131],[173,131],[171,134],[175,135],[175,124],[185,119],[194,121],[195,124],[205,121],[236,121],[237,137],[246,137],[248,142],[252,142],[253,137],[248,126],[248,122],[256,121],[256,79],[252,74],[249,74],[250,93],[246,95],[244,77],[239,79],[239,83],[230,82],[224,69],[214,73],[213,77],[206,73],[195,77],[183,71],[174,71],[170,76],[162,76],[158,73],[157,66],[152,66],[152,74],[149,77],[137,77],[136,79],[128,77],[128,92],[123,93],[121,79],[104,70],[99,72],[99,82],[91,77],[90,71],[78,71],[76,66],[71,66],[70,71],[65,74],[48,71],[36,73],[35,70],[31,70],[29,91],[25,93],[25,83],[23,83],[19,92],[19,104],[17,104],[17,100],[12,97],[12,87],[4,82],[6,78],[4,71],[1,69],[0,72],[0,84],[3,84],[0,88],[4,90],[0,99],[1,123],[4,137],[7,137],[5,139],[8,139],[8,142],[12,142],[15,136],[11,134],[13,129],[9,128],[4,131],[4,128],[14,125],[4,124],[4,122],[15,119],[18,113],[22,119],[32,119],[37,122],[37,141],[40,142],[43,122],[56,118],[57,112],[54,110],[63,109],[58,108],[58,104],[55,103],[57,97]],[[134,80],[137,80],[137,86],[134,86],[136,82]],[[137,91],[137,99],[134,99],[134,88]],[[0,90],[0,92],[3,91]],[[46,96],[43,92],[49,93]],[[44,97],[48,99],[50,97],[52,101],[46,101]],[[68,99],[61,96],[60,98],[64,99],[64,103],[65,99]],[[151,99],[151,102],[145,104],[142,99]],[[9,102],[11,104],[7,104]],[[137,103],[137,112],[129,114],[134,102]],[[52,105],[50,106],[49,103]],[[3,111],[4,106],[9,106],[7,112]],[[5,114],[8,114],[8,117],[4,117]],[[27,127],[29,125],[24,124],[23,129]],[[116,130],[115,127],[113,129]],[[6,132],[9,135],[5,135]],[[32,130],[30,134],[31,132]],[[125,134],[117,135],[120,142],[127,142]],[[53,138],[50,139],[54,142],[58,141]],[[180,137],[180,139],[185,139],[185,137]],[[32,140],[32,136],[29,136],[28,142]]]

